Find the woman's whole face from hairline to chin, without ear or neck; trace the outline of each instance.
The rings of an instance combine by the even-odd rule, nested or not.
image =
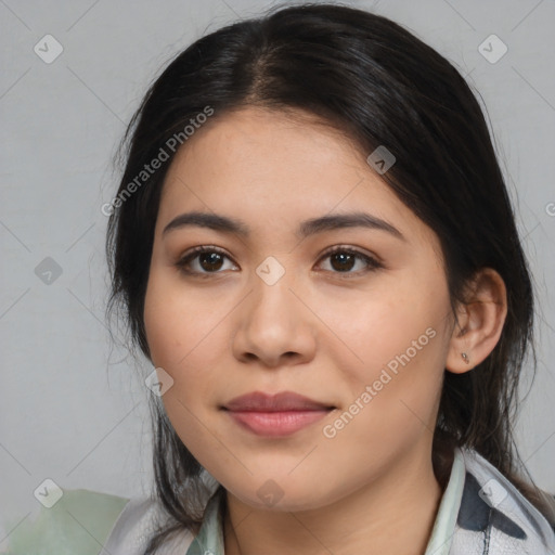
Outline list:
[[[165,181],[152,362],[183,443],[251,506],[324,506],[431,464],[451,338],[440,246],[369,154],[249,107],[197,130]],[[255,391],[313,403],[230,410]]]

